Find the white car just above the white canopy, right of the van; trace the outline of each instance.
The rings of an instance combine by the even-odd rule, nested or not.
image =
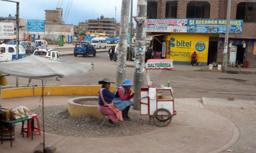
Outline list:
[[[40,57],[45,57],[47,59],[52,60],[60,60],[60,53],[56,49],[49,49],[49,48],[38,48],[35,50],[33,55],[37,55]]]

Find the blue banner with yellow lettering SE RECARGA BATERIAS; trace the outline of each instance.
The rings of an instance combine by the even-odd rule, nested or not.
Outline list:
[[[188,19],[188,33],[225,33],[226,20]],[[229,33],[243,33],[243,20],[230,20]]]

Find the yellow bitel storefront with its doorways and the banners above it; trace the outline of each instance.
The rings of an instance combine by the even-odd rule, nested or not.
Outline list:
[[[148,19],[146,29],[147,35],[153,36],[153,58],[190,64],[196,52],[197,64],[217,62],[218,37],[225,33],[225,25],[226,20]],[[229,33],[243,33],[243,20],[230,20]]]

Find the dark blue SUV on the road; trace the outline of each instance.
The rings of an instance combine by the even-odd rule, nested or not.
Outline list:
[[[77,43],[74,48],[74,56],[83,55],[84,57],[88,57],[88,55],[93,54],[96,56],[96,50],[92,47],[92,45],[87,43]]]

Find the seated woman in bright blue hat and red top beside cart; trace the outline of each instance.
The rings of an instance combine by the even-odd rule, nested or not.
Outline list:
[[[135,94],[135,92],[131,91],[131,86],[133,86],[131,80],[125,79],[123,84],[118,87],[114,93],[115,98],[113,99],[113,103],[117,108],[119,108],[119,110],[122,110],[124,120],[131,120],[128,116],[128,112],[130,106],[133,105],[130,99],[132,99]]]

